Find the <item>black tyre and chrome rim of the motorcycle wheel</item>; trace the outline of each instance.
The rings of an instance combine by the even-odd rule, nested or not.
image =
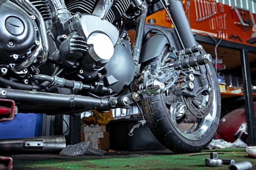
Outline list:
[[[166,62],[166,58],[162,55],[157,60]],[[187,97],[175,95],[175,89],[170,88],[141,100],[149,128],[166,148],[176,153],[200,152],[211,142],[218,128],[221,98],[216,72],[212,64],[200,67],[210,82],[210,94]],[[201,84],[200,81],[200,77],[195,76],[194,82]]]

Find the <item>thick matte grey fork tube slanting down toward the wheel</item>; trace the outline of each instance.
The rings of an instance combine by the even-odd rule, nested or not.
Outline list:
[[[185,48],[197,45],[180,0],[169,0],[168,9]],[[177,15],[179,14],[179,15]]]

